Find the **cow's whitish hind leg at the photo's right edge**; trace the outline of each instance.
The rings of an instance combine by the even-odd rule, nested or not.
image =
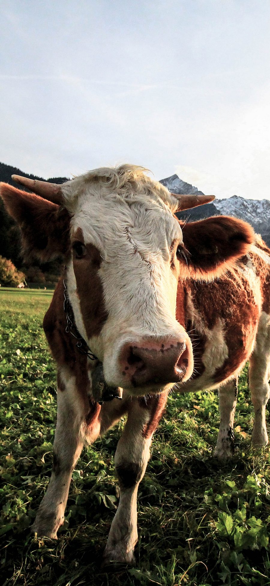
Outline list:
[[[249,386],[254,406],[252,445],[262,448],[268,444],[265,408],[270,396],[270,316],[262,312],[259,319],[256,343],[250,357]]]

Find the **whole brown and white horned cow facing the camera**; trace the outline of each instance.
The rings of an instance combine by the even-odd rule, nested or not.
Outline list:
[[[237,376],[249,359],[252,443],[268,443],[270,251],[241,220],[178,222],[179,207],[212,198],[192,203],[192,196],[175,196],[136,166],[98,169],[62,186],[15,180],[41,195],[1,184],[25,253],[43,261],[62,253],[66,264],[44,318],[58,366],[58,415],[53,473],[33,530],[56,538],[84,442],[94,442],[127,414],[115,455],[120,502],[105,563],[131,563],[137,490],[175,384],[183,392],[219,387],[215,454],[227,458],[233,453]],[[77,326],[94,361],[66,332],[64,296],[72,308],[71,331]],[[95,370],[101,363],[103,373]],[[96,372],[108,387],[124,389],[122,401],[94,400]]]

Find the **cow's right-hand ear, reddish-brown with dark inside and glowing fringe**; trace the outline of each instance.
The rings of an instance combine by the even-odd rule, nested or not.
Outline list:
[[[182,224],[182,223],[180,223]],[[218,277],[247,254],[254,243],[250,224],[229,216],[210,217],[182,224],[184,247],[179,261],[181,275],[199,280]]]

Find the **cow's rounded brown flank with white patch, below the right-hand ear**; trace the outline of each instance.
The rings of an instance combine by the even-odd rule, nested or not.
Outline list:
[[[248,360],[261,311],[260,289],[250,259],[241,259],[210,282],[185,283],[185,328],[195,350],[194,389],[198,381],[203,388],[213,387]],[[186,387],[192,390],[190,384]]]

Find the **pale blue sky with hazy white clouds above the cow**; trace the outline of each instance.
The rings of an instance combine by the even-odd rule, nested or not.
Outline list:
[[[270,199],[268,0],[0,0],[0,161]]]

